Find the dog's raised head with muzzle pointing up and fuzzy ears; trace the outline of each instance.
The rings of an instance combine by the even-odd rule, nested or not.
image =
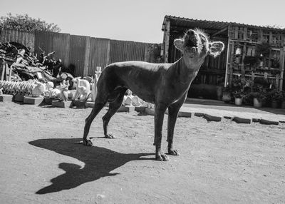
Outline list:
[[[207,54],[215,57],[224,50],[221,41],[210,42],[207,34],[198,29],[188,30],[183,39],[176,39],[174,44],[189,61],[203,61]]]

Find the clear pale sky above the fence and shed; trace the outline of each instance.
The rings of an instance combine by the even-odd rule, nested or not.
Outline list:
[[[0,16],[28,14],[61,32],[162,43],[165,15],[285,27],[285,0],[0,0]]]

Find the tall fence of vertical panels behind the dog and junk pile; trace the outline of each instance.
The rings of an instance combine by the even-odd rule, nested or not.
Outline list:
[[[160,49],[160,44],[147,44],[134,41],[76,36],[53,32],[24,32],[11,29],[0,30],[0,42],[16,41],[31,47],[39,55],[55,51],[55,58],[61,58],[63,66],[74,68],[75,76],[93,76],[95,68],[102,69],[109,63],[118,61],[156,61],[160,56],[153,56],[153,49]]]

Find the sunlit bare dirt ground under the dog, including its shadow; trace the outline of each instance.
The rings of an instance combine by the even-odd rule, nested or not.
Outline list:
[[[285,203],[285,124],[178,118],[179,156],[154,160],[153,116],[0,103],[0,203]],[[162,147],[167,150],[167,115]]]

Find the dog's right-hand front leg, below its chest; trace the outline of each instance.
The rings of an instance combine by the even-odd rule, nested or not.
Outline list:
[[[182,96],[182,98],[179,101],[173,103],[171,106],[168,107],[167,142],[168,142],[168,153],[170,155],[179,155],[177,150],[173,149],[173,134],[174,134],[174,128],[178,112],[183,103],[185,102],[186,96],[187,94],[185,94],[185,96]]]

